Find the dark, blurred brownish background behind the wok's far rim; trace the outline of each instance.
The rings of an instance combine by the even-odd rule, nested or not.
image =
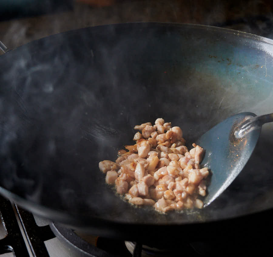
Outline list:
[[[0,0],[0,40],[9,49],[55,33],[121,22],[204,24],[273,39],[273,1]]]

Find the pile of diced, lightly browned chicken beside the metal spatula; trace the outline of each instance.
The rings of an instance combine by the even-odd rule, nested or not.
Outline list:
[[[185,146],[180,127],[158,118],[136,125],[134,145],[119,150],[116,162],[104,160],[99,169],[106,173],[107,184],[131,204],[150,205],[166,213],[184,208],[203,208],[198,196],[206,195],[207,167],[201,168],[204,149],[192,144]]]

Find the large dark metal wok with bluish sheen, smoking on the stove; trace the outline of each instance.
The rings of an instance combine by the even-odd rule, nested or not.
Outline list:
[[[273,207],[272,124],[262,127],[231,186],[189,213],[129,205],[105,184],[98,163],[115,160],[132,143],[134,125],[158,117],[180,126],[190,145],[235,113],[272,112],[272,56],[271,39],[165,23],[84,28],[5,53],[1,194],[53,221],[132,239],[177,225],[197,236],[203,228],[236,231],[241,223],[248,233],[254,220],[266,224]]]

